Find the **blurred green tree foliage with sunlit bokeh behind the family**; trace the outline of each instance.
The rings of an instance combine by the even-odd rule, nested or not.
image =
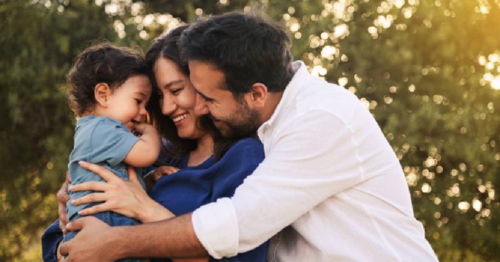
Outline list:
[[[370,109],[440,261],[500,261],[498,0],[0,0],[0,260],[39,261],[56,218],[78,51],[95,39],[145,50],[181,21],[255,9]]]

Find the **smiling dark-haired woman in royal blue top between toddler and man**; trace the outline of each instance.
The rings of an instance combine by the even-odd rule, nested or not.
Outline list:
[[[148,111],[159,133],[168,141],[162,151],[169,166],[153,173],[157,181],[149,196],[133,179],[112,180],[113,185],[97,182],[100,184],[90,189],[102,193],[86,195],[73,204],[104,203],[84,209],[82,215],[110,210],[147,223],[185,214],[218,198],[232,196],[263,160],[262,145],[257,139],[225,140],[210,120],[194,113],[196,91],[176,44],[186,28],[187,25],[179,26],[155,40],[146,53],[157,86]],[[79,184],[72,190],[87,190],[87,186]],[[119,201],[113,201],[116,199]],[[42,236],[44,261],[57,260],[61,239],[62,231],[56,221]],[[265,261],[267,244],[225,261]]]

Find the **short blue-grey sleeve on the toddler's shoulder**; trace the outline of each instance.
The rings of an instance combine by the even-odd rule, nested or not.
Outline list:
[[[90,137],[92,153],[89,161],[107,162],[110,166],[116,166],[123,161],[137,140],[139,138],[122,124],[101,120],[92,130]]]

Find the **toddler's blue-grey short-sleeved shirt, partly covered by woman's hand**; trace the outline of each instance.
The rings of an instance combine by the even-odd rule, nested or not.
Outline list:
[[[87,181],[104,181],[99,175],[88,171],[78,161],[86,161],[103,166],[125,181],[128,181],[127,165],[123,159],[139,138],[134,136],[123,123],[104,116],[84,116],[76,121],[74,146],[69,156],[69,177],[71,185]],[[136,168],[137,178],[144,187],[142,175],[144,168]],[[145,188],[145,187],[144,187]],[[71,200],[80,198],[91,191],[71,192]],[[69,219],[87,205],[73,206],[67,202],[66,212]]]

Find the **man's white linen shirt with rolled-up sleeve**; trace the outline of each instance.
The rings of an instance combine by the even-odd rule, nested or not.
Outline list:
[[[437,261],[413,217],[399,161],[370,112],[301,61],[258,129],[265,159],[192,224],[220,259],[266,240],[279,262]]]

